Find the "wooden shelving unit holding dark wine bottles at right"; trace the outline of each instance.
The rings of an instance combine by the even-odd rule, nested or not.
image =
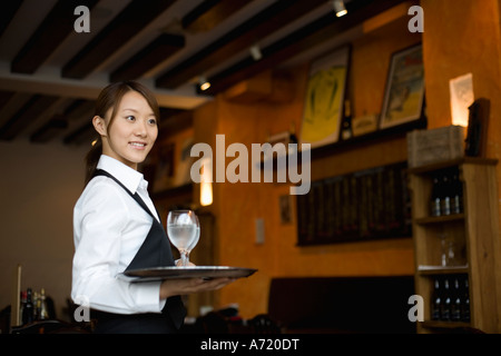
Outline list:
[[[498,160],[463,158],[412,168],[409,184],[412,199],[415,251],[415,293],[424,300],[424,322],[419,333],[501,333],[501,243],[499,236]],[[463,187],[463,211],[431,216],[433,176],[448,168],[459,170]],[[461,259],[443,266],[441,238],[448,236]],[[432,320],[431,301],[436,277],[468,278],[470,322]]]

